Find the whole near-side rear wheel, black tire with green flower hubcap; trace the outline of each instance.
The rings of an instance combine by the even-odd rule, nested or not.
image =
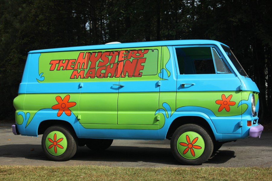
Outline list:
[[[65,126],[51,126],[43,133],[42,148],[50,160],[67,161],[77,152],[77,137],[72,130],[69,130]]]

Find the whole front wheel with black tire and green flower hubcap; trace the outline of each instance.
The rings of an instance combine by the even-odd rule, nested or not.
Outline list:
[[[192,135],[191,138],[188,135]],[[181,142],[181,140],[185,141]],[[209,132],[201,126],[185,124],[173,133],[171,151],[181,164],[201,165],[210,158],[213,152],[213,141]]]

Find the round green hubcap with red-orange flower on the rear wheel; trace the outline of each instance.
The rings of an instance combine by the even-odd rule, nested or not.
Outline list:
[[[59,156],[63,154],[67,148],[67,139],[63,133],[52,131],[47,135],[45,145],[50,154]]]

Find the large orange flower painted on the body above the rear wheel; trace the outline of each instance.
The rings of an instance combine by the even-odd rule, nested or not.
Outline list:
[[[56,97],[56,101],[59,104],[53,105],[52,109],[59,109],[57,116],[61,116],[63,112],[65,112],[65,114],[67,116],[71,116],[71,110],[69,108],[75,106],[77,103],[75,102],[68,102],[70,99],[70,95],[66,95],[63,100],[60,96]]]

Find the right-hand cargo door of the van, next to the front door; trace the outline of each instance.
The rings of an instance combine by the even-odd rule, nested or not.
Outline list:
[[[137,50],[137,49],[136,49]],[[129,48],[128,51],[136,51]],[[118,124],[120,125],[153,125],[158,129],[159,120],[155,116],[155,111],[159,108],[159,91],[158,81],[160,77],[161,47],[148,47],[144,50],[137,50],[142,54],[142,58],[124,60],[126,65],[133,64],[136,66],[132,76],[123,70],[120,76],[118,95]],[[127,58],[129,58],[127,56]],[[137,60],[138,59],[138,60]],[[136,63],[137,60],[137,63]],[[131,63],[130,63],[131,62]],[[140,70],[139,69],[143,69]]]

